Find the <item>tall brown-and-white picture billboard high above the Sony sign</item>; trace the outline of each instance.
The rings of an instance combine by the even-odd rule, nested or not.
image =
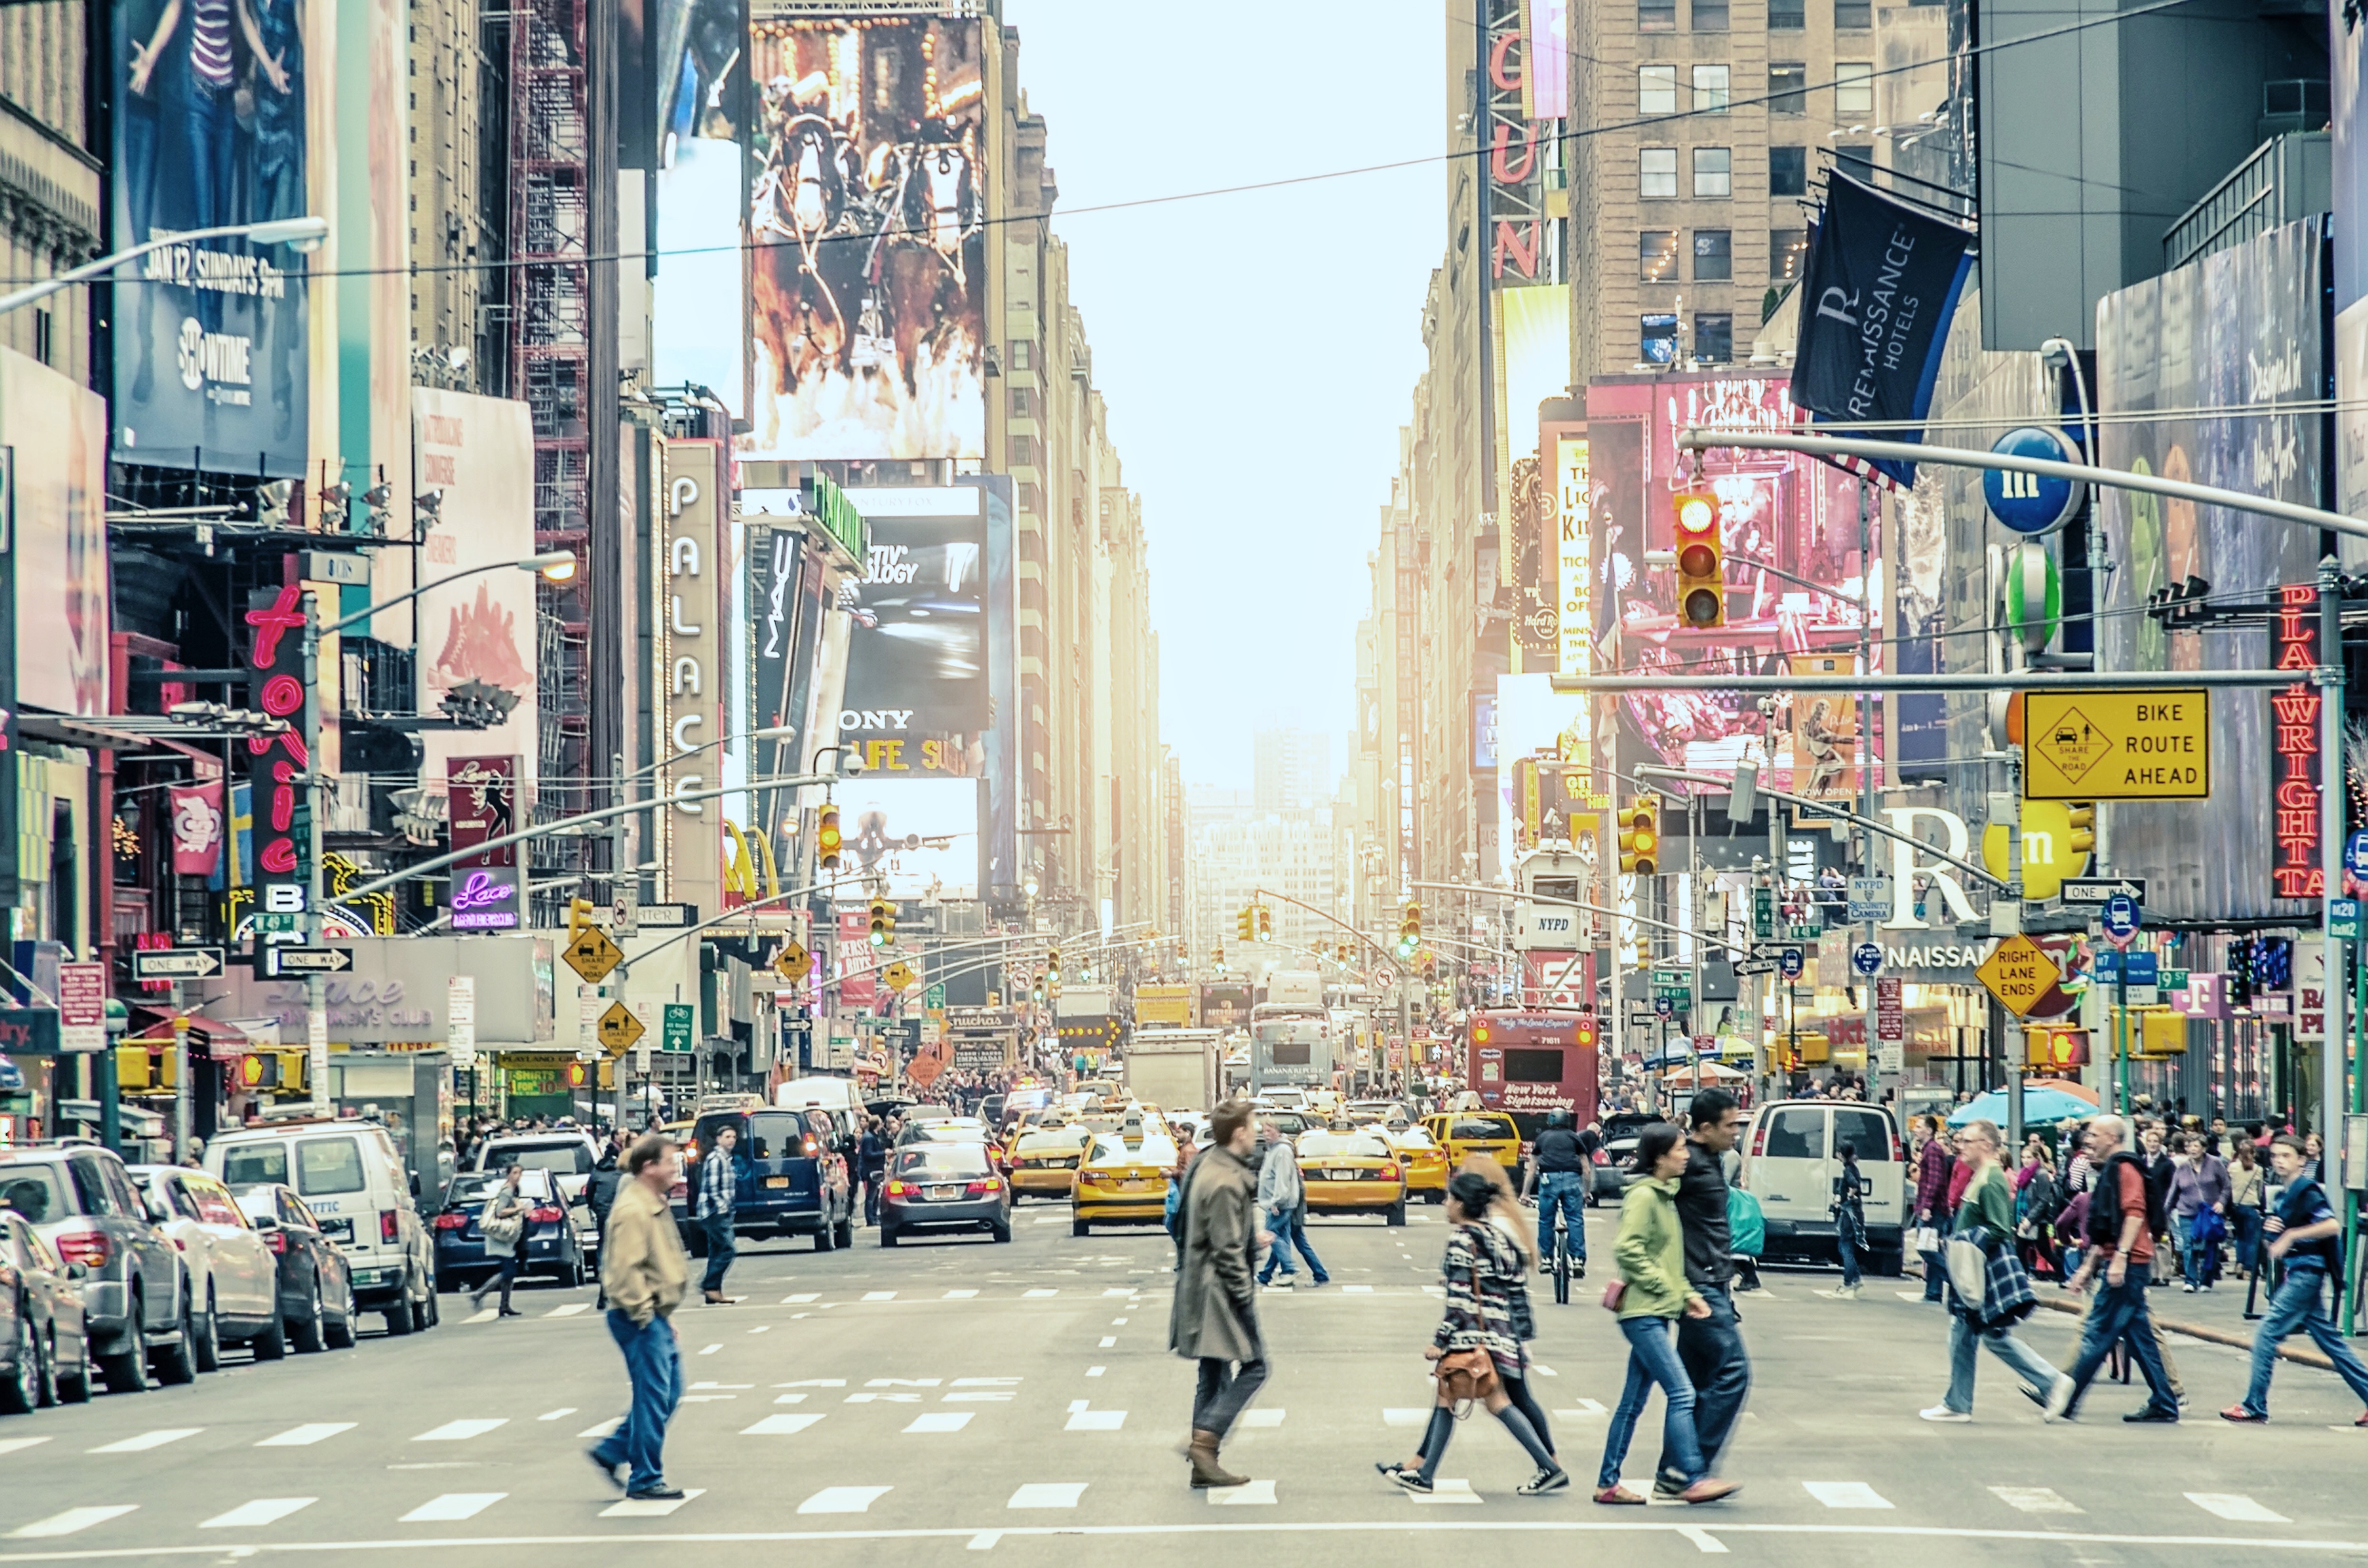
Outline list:
[[[760,14],[748,62],[739,452],[985,457],[983,24]]]

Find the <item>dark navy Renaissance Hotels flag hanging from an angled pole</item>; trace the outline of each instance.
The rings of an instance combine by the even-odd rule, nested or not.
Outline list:
[[[1923,441],[1939,351],[1973,270],[1970,242],[1973,234],[1946,218],[1830,173],[1800,284],[1793,403],[1816,424],[1880,422],[1894,429],[1866,433]],[[1902,490],[1916,483],[1911,462],[1835,462]]]

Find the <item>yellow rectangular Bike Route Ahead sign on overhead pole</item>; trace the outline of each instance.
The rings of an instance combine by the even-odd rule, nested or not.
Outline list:
[[[2025,692],[2022,798],[2205,801],[2212,692]]]

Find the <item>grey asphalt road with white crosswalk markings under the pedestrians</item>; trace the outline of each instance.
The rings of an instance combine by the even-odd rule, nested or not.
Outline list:
[[[1601,1258],[1608,1213],[1596,1217]],[[466,1319],[445,1298],[426,1336],[225,1371],[194,1388],[99,1395],[0,1421],[0,1563],[178,1561],[282,1551],[403,1551],[414,1561],[628,1561],[637,1542],[793,1549],[807,1563],[1132,1566],[1210,1551],[1357,1561],[1404,1556],[1402,1532],[1508,1532],[1504,1551],[1733,1554],[1767,1563],[2226,1563],[2368,1556],[2368,1433],[2323,1371],[2280,1367],[2269,1428],[2212,1416],[2242,1388],[2233,1350],[2179,1343],[2193,1397],[2176,1428],[2117,1419],[2100,1386],[2077,1426],[2041,1426],[1984,1357],[1973,1426],[1930,1426],[1944,1322],[1871,1281],[1771,1274],[1745,1298],[1757,1383],[1722,1466],[1726,1504],[1601,1509],[1587,1497],[1620,1341],[1594,1291],[1539,1293],[1539,1388],[1577,1485],[1523,1499],[1527,1464],[1485,1416],[1454,1435],[1430,1499],[1390,1490],[1376,1459],[1411,1452],[1428,1412],[1437,1210],[1404,1229],[1317,1222],[1321,1291],[1269,1293],[1274,1381],[1227,1447],[1257,1478],[1186,1487],[1191,1371],[1165,1352],[1167,1239],[1075,1239],[1032,1206],[1016,1239],[741,1255],[732,1307],[677,1315],[689,1402],[668,1442],[680,1504],[620,1504],[583,1459],[620,1414],[618,1355],[590,1291],[523,1289],[526,1319]],[[2072,1319],[2029,1338],[2070,1357]],[[1627,1473],[1646,1478],[1658,1402]],[[1217,1540],[1238,1535],[1241,1540]],[[1606,1540],[1617,1535],[1617,1540]],[[1643,1537],[1643,1540],[1639,1540]],[[1414,1551],[1452,1549],[1414,1542]]]

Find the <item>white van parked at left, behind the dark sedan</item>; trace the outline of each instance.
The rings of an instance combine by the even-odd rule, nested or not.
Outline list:
[[[436,1322],[436,1251],[417,1177],[403,1170],[386,1127],[353,1118],[242,1127],[206,1146],[206,1170],[232,1191],[294,1187],[346,1248],[355,1303],[384,1312],[388,1334]]]

